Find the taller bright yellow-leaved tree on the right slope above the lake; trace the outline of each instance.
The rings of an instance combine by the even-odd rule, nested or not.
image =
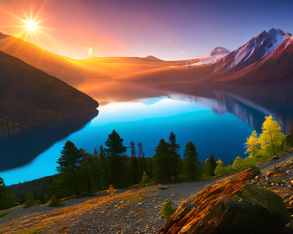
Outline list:
[[[286,136],[280,132],[281,127],[276,120],[274,121],[272,114],[265,116],[265,121],[261,129],[263,132],[258,138],[261,154],[263,156],[281,154]]]

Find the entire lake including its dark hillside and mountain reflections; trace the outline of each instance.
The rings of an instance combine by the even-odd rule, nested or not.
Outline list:
[[[181,156],[186,142],[192,141],[200,161],[212,152],[227,165],[236,156],[248,156],[244,154],[246,137],[253,130],[260,133],[264,116],[272,113],[287,134],[293,122],[292,87],[170,83],[144,87],[153,91],[150,94],[158,91],[161,96],[112,99],[100,105],[98,116],[2,132],[0,177],[10,185],[56,174],[56,161],[67,140],[93,152],[113,129],[124,139],[125,146],[131,141],[141,142],[146,156],[152,156],[159,140],[167,141],[172,131]]]

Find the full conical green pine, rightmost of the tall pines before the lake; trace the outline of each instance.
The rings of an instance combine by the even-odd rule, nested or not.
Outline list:
[[[191,141],[186,143],[183,156],[183,173],[185,178],[188,180],[198,179],[198,154],[196,152],[195,145]]]

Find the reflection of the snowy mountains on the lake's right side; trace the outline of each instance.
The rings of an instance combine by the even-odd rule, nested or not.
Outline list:
[[[285,134],[289,134],[293,122],[292,86],[167,84],[159,88],[171,97],[189,99],[218,115],[231,113],[259,133],[264,117],[270,114]]]

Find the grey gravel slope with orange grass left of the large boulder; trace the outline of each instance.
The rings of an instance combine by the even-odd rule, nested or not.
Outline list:
[[[67,200],[65,209],[46,205],[30,208],[15,207],[6,210],[14,212],[0,218],[0,226],[6,226],[8,222],[17,226],[21,225],[21,222],[34,220],[35,217],[59,212],[65,214],[54,220],[54,226],[43,228],[36,233],[156,233],[164,224],[160,218],[160,210],[165,199],[169,198],[173,206],[178,207],[182,200],[187,200],[203,190],[205,186],[228,176],[187,183],[140,187],[128,191],[118,190],[120,194],[111,199],[107,198],[105,201],[93,197]],[[166,186],[167,189],[158,190],[161,186]],[[107,194],[99,192],[98,195]],[[86,204],[90,205],[86,206]],[[71,208],[74,210],[77,209],[76,207],[79,209],[78,212],[70,212]],[[83,207],[87,208],[82,209]],[[60,231],[61,227],[64,231]]]

